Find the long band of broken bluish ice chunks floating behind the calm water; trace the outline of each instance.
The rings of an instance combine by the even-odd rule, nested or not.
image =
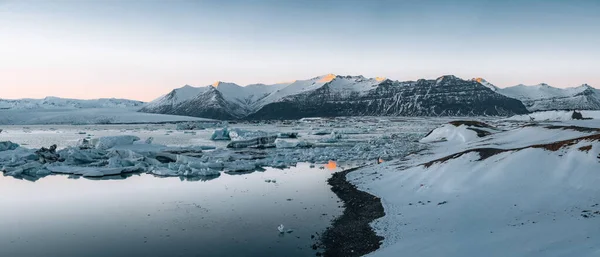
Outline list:
[[[352,126],[345,125],[348,123]],[[4,143],[0,148],[8,150],[0,151],[0,171],[9,176],[34,179],[52,173],[98,177],[134,172],[200,177],[217,176],[221,172],[252,172],[265,167],[288,168],[301,162],[327,164],[334,160],[356,165],[374,164],[379,158],[388,160],[423,147],[416,143],[421,133],[401,133],[394,128],[392,131],[386,128],[385,135],[372,133],[350,137],[344,134],[345,127],[356,128],[357,131],[346,131],[352,133],[367,131],[377,124],[356,125],[352,120],[322,124],[319,129],[326,130],[329,136],[306,135],[302,140],[294,138],[299,136],[298,132],[291,132],[294,125],[285,124],[282,131],[274,131],[271,125],[264,124],[259,128],[266,131],[245,129],[248,126],[214,131],[211,139],[231,141],[228,142],[231,148],[169,147],[156,144],[152,138],[140,140],[128,135],[81,139],[76,146],[54,150],[27,149]],[[389,136],[393,133],[398,136]]]

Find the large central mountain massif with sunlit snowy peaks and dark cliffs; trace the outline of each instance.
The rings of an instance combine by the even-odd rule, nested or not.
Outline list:
[[[475,80],[455,76],[400,82],[334,74],[276,85],[242,87],[217,82],[206,87],[186,86],[152,101],[141,111],[217,119],[511,115],[527,112],[520,101],[498,94]]]

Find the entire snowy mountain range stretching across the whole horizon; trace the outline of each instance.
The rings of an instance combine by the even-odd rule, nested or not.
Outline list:
[[[273,85],[216,82],[186,85],[149,103],[126,99],[0,99],[0,109],[128,108],[202,118],[297,119],[332,116],[507,116],[543,110],[600,110],[600,91],[587,84],[498,88],[482,78],[452,75],[396,81],[327,74]]]

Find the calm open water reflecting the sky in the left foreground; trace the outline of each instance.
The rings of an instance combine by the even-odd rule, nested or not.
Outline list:
[[[314,256],[311,235],[343,210],[326,183],[336,171],[299,164],[206,181],[0,176],[0,256]],[[293,232],[280,234],[279,224]]]

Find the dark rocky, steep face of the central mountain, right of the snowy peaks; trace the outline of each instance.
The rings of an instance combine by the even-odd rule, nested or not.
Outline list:
[[[336,92],[329,84],[263,106],[248,119],[332,116],[474,116],[528,113],[516,99],[476,81],[444,76],[438,80],[385,80],[374,90]]]

